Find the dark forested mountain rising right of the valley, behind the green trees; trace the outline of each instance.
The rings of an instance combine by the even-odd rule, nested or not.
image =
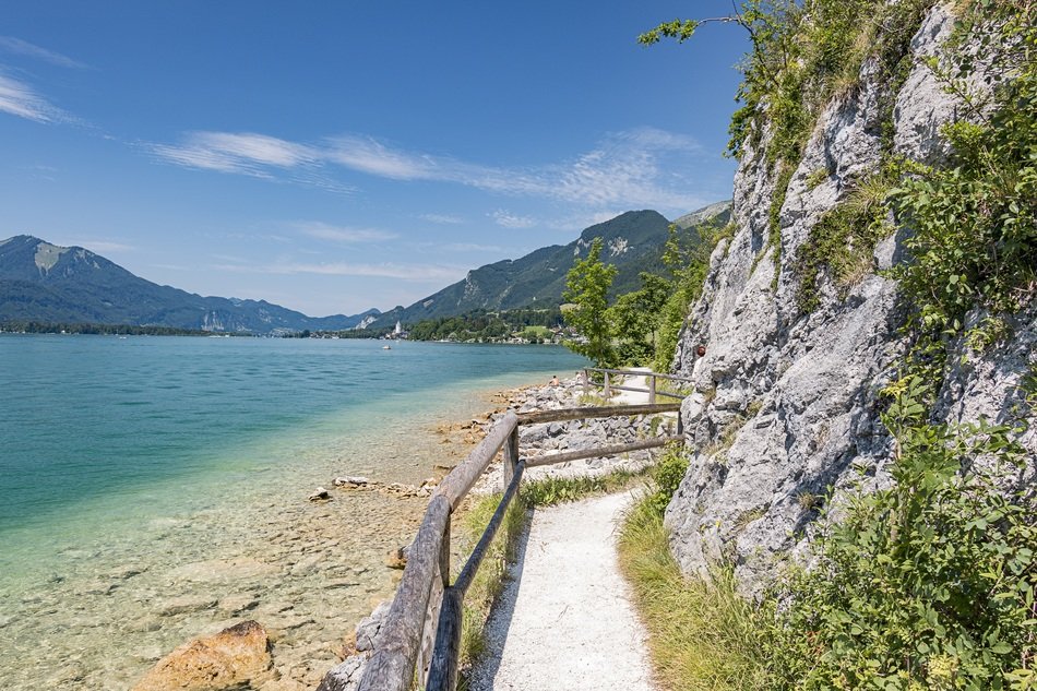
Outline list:
[[[688,219],[683,227],[687,229],[712,218],[726,223],[729,216],[730,202],[719,202],[682,216]],[[413,323],[454,317],[477,309],[557,307],[565,289],[565,274],[577,258],[585,255],[595,238],[605,240],[603,260],[619,270],[612,283],[612,294],[636,290],[640,272],[663,270],[661,252],[669,236],[669,221],[654,211],[627,212],[586,228],[569,245],[544,247],[521,259],[506,259],[469,271],[463,281],[410,307],[397,307],[383,313],[373,326],[386,326],[397,320]]]

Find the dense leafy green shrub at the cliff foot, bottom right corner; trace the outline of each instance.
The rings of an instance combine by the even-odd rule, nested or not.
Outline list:
[[[775,688],[1034,679],[1037,503],[998,489],[1023,450],[1005,426],[927,425],[928,389],[905,380],[884,416],[898,446],[894,486],[856,498],[820,540],[820,563],[771,600],[776,623],[762,639]]]

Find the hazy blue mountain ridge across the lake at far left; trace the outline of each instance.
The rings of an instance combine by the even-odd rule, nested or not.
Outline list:
[[[265,300],[159,286],[81,247],[29,235],[0,240],[0,321],[134,324],[270,334],[353,329],[378,310],[313,318]]]

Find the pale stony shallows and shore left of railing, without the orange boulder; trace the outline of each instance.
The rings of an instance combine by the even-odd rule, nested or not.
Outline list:
[[[467,395],[442,415],[485,422],[502,404]],[[356,622],[392,595],[400,571],[386,555],[414,535],[422,481],[444,475],[479,433],[433,416],[397,434],[309,446],[302,462],[326,470],[308,481],[242,475],[218,501],[186,496],[132,531],[83,531],[40,551],[0,585],[0,688],[127,691],[178,646],[249,620],[271,643],[261,688],[314,688]],[[382,489],[333,487],[357,472]],[[331,487],[331,501],[308,501],[317,484]]]

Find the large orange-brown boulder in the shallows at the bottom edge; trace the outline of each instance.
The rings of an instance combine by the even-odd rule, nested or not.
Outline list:
[[[192,641],[158,662],[132,691],[222,691],[248,688],[271,674],[266,631],[242,621],[214,636]]]

